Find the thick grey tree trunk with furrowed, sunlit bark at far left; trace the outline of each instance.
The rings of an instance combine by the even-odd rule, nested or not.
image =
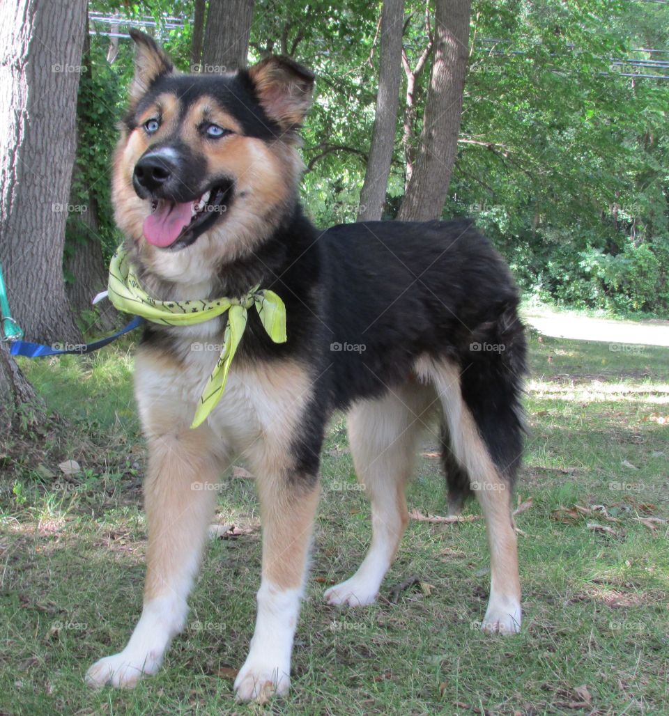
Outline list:
[[[0,261],[27,338],[72,340],[63,246],[76,140],[85,0],[0,9]]]

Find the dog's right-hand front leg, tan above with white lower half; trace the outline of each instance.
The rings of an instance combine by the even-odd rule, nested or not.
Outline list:
[[[289,690],[290,657],[319,487],[312,475],[266,475],[257,483],[263,531],[262,580],[256,629],[235,690],[239,700],[264,702]]]

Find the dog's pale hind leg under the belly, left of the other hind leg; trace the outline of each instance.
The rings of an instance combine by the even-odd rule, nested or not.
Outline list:
[[[355,471],[372,503],[372,545],[350,579],[327,589],[324,597],[329,604],[362,606],[375,601],[409,521],[405,483],[431,401],[431,392],[413,383],[377,400],[358,402],[350,410]]]

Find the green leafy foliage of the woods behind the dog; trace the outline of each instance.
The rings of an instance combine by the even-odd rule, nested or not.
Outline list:
[[[153,18],[156,38],[188,71],[191,3],[96,0],[95,9]],[[317,74],[303,132],[302,199],[319,226],[357,215],[375,113],[379,12],[380,3],[256,0],[251,61],[291,54]],[[167,16],[184,18],[183,31],[165,29]],[[406,2],[403,42],[414,67],[428,42],[423,1]],[[622,77],[611,63],[648,59],[638,51],[643,47],[669,49],[669,8],[475,0],[470,44],[444,218],[473,216],[527,291],[580,306],[666,314],[669,81]],[[100,237],[112,246],[109,163],[133,50],[121,40],[108,67],[107,45],[107,38],[92,38],[93,71],[80,92],[80,160],[82,203],[94,187]],[[430,61],[415,89],[415,137],[429,79]],[[404,190],[402,125],[400,116],[386,218],[396,216]],[[69,246],[75,234],[73,226]]]

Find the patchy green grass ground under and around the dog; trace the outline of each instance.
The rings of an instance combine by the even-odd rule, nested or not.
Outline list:
[[[228,675],[246,656],[260,574],[254,485],[232,475],[218,516],[243,533],[212,543],[188,627],[163,670],[131,692],[83,683],[92,662],[125,645],[141,607],[145,456],[130,356],[125,344],[22,364],[70,427],[44,429],[34,445],[9,442],[0,455],[0,712],[669,713],[668,529],[641,521],[669,518],[667,349],[622,354],[531,337],[518,499],[532,504],[516,517],[518,637],[478,631],[489,579],[481,521],[410,523],[378,604],[338,611],[322,602],[329,584],[355,571],[370,538],[337,417],[323,454],[292,691],[264,707],[236,705]],[[436,449],[426,434],[408,499],[444,514]],[[81,472],[63,475],[64,459]],[[388,601],[409,576],[421,584]]]

